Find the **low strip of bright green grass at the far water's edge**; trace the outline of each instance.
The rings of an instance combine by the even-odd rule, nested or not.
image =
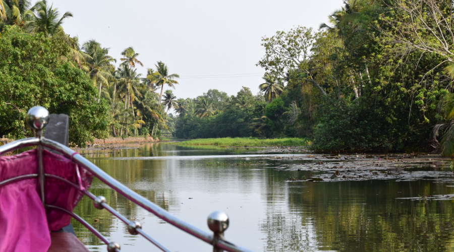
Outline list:
[[[217,145],[232,147],[306,146],[310,141],[304,138],[205,138],[181,142],[184,145]]]

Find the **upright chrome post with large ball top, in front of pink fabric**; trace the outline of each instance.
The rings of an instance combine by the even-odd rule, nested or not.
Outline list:
[[[46,108],[41,106],[32,107],[28,110],[25,120],[28,123],[28,126],[36,134],[36,137],[41,139],[43,137],[43,130],[49,123],[50,115],[49,111]],[[38,151],[38,179],[39,179],[39,188],[41,194],[42,204],[44,202],[44,167],[42,164],[42,144],[41,142],[37,146]]]

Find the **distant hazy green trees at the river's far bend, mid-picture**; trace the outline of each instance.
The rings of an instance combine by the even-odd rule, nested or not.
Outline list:
[[[177,138],[249,137],[257,135],[250,123],[262,115],[265,101],[248,88],[232,97],[209,90],[197,99],[181,101],[183,106],[175,125]]]

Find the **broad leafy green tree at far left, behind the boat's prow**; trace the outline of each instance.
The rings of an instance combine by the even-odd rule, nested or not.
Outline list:
[[[11,29],[0,37],[0,135],[30,136],[25,114],[33,106],[70,117],[70,142],[103,137],[109,121],[104,102],[81,70],[62,61],[68,48],[58,38]]]

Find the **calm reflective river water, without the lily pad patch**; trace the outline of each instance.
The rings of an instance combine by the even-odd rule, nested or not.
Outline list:
[[[286,181],[301,172],[284,154],[263,148],[156,143],[81,150],[113,178],[178,218],[209,231],[207,216],[227,213],[225,238],[255,251],[454,250],[454,182],[448,177],[360,181]],[[277,158],[276,158],[277,157]],[[303,161],[301,161],[303,162]],[[305,161],[306,162],[306,161]],[[287,167],[287,168],[286,168]],[[172,251],[212,251],[95,179],[90,192]],[[449,196],[451,195],[451,196]],[[431,196],[440,196],[431,199]],[[74,210],[122,251],[159,251],[84,197]],[[106,246],[73,221],[91,251]]]

